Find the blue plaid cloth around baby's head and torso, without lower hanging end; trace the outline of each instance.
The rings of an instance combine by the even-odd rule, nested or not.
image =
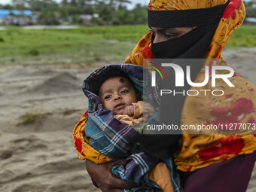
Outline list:
[[[102,154],[111,158],[128,156],[138,136],[132,127],[115,119],[112,111],[105,110],[97,92],[102,82],[114,75],[127,75],[133,81],[137,90],[143,92],[143,73],[147,72],[141,66],[129,64],[106,65],[91,73],[83,84],[84,94],[89,99],[86,135],[90,137],[90,145]],[[145,94],[144,94],[145,96]],[[146,102],[147,96],[145,96]],[[151,96],[153,99],[153,96]],[[152,102],[150,102],[152,103]],[[154,106],[154,108],[157,108]]]

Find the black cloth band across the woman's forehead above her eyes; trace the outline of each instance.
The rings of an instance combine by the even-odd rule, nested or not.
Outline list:
[[[172,28],[185,26],[206,26],[218,23],[229,4],[218,5],[212,8],[187,9],[175,11],[148,10],[148,26]]]

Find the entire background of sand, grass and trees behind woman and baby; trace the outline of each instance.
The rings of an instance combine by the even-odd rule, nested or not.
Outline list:
[[[0,1],[0,192],[99,191],[78,159],[82,81],[124,62],[150,29],[147,0]],[[256,1],[224,57],[256,84]],[[248,191],[256,191],[256,175]]]

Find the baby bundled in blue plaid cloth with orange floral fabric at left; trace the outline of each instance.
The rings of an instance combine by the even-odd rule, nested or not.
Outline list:
[[[117,64],[102,66],[84,80],[88,113],[74,128],[75,148],[81,160],[93,163],[126,158],[125,163],[111,168],[117,178],[137,185],[125,191],[171,192],[171,160],[162,162],[146,154],[136,140],[144,133],[140,132],[144,122],[155,114],[154,108],[142,100],[142,77],[141,66]]]

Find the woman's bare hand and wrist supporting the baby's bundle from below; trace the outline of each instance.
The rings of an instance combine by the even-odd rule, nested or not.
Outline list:
[[[90,177],[96,182],[103,192],[121,192],[121,188],[128,189],[136,186],[135,184],[116,178],[111,173],[112,166],[116,164],[123,164],[124,161],[125,160],[123,159],[109,163],[96,164],[90,160],[86,160],[85,166]]]

